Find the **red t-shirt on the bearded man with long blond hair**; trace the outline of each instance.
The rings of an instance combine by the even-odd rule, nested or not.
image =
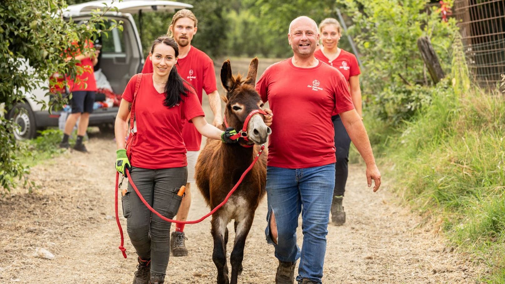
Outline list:
[[[201,104],[202,89],[207,94],[217,90],[216,73],[214,62],[203,51],[191,45],[191,49],[186,57],[177,60],[177,72],[188,81],[196,90],[198,100]],[[142,73],[152,73],[153,62],[147,57]],[[182,129],[182,137],[188,151],[199,151],[201,145],[201,134],[192,123],[185,123]]]

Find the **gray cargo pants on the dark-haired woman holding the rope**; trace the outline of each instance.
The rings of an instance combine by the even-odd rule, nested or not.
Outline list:
[[[145,201],[163,216],[172,219],[179,210],[182,198],[179,188],[186,184],[187,167],[143,169],[132,167],[131,178]],[[170,257],[170,225],[151,213],[128,183],[128,191],[121,198],[123,215],[130,241],[138,256],[151,260],[151,274],[165,275]]]

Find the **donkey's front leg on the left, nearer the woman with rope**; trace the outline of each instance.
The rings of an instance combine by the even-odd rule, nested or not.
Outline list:
[[[212,216],[212,238],[214,239],[214,251],[212,253],[212,260],[216,264],[218,271],[217,283],[218,284],[228,284],[228,266],[226,264],[226,224],[229,220],[224,220],[223,216],[214,213]]]

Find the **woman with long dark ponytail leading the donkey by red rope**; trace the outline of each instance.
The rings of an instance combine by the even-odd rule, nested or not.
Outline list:
[[[236,143],[234,129],[222,131],[207,123],[194,89],[176,70],[179,48],[173,38],[162,36],[151,46],[149,59],[153,73],[134,75],[123,93],[116,117],[116,169],[131,175],[142,197],[156,211],[173,218],[180,205],[179,187],[186,184],[186,147],[182,139],[184,121],[199,133]],[[137,83],[137,76],[140,77]],[[136,87],[137,85],[137,87]],[[137,132],[126,153],[127,118],[135,118]],[[188,122],[186,122],[188,123]],[[161,284],[170,256],[170,225],[140,201],[131,184],[122,197],[130,241],[138,255],[133,283]]]

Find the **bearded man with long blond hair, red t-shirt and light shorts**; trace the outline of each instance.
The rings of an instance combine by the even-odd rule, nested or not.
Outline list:
[[[200,104],[202,102],[202,90],[205,90],[209,96],[209,104],[214,114],[212,124],[220,126],[223,124],[223,119],[221,116],[221,98],[217,90],[214,62],[203,51],[191,45],[191,40],[197,31],[197,24],[198,20],[193,12],[182,9],[172,17],[167,35],[173,37],[179,46],[179,58],[176,65],[177,72],[194,87]],[[153,64],[149,57],[147,57],[142,73],[152,72]],[[186,121],[182,129],[182,138],[187,150],[188,180],[186,183],[186,195],[176,216],[176,220],[178,221],[185,221],[187,219],[189,207],[191,206],[191,183],[194,183],[194,167],[200,151],[201,134],[198,133],[192,123]],[[185,245],[186,240],[184,224],[176,224],[170,242],[173,256],[188,255]]]

